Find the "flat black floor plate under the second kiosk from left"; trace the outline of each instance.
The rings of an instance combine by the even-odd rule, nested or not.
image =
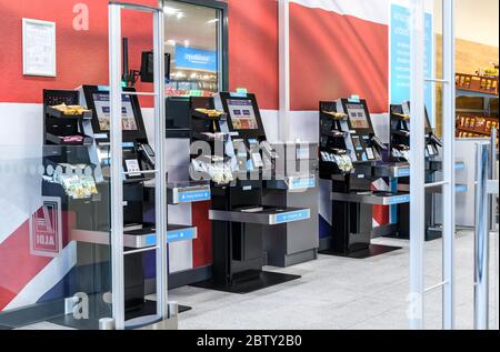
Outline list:
[[[300,276],[262,271],[258,279],[240,281],[233,283],[232,285],[218,285],[213,283],[213,281],[209,280],[193,284],[192,286],[229,293],[247,294],[297,279],[300,279]]]

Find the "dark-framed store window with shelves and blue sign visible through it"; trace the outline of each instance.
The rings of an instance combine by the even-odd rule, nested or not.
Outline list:
[[[226,4],[163,1],[166,51],[171,56],[169,97],[211,97],[224,89]]]

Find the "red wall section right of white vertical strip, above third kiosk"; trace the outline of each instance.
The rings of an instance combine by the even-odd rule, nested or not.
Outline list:
[[[388,26],[290,4],[291,109],[354,93],[371,112],[387,112],[388,36]]]

